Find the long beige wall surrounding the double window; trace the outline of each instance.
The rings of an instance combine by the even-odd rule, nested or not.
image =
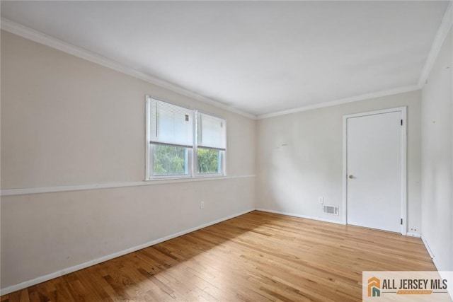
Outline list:
[[[1,289],[254,208],[255,120],[11,33],[1,63],[2,190],[144,180],[145,94],[228,123],[224,179],[2,197]]]

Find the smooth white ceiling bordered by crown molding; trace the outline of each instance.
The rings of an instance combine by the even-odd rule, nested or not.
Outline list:
[[[252,115],[418,84],[448,1],[1,1],[1,17]]]

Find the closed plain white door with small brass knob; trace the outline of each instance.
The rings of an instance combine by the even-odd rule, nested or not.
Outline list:
[[[401,118],[347,118],[348,224],[401,232]]]

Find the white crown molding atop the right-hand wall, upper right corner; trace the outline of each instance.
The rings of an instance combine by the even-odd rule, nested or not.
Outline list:
[[[439,29],[432,41],[431,50],[426,59],[425,66],[423,66],[422,73],[420,74],[420,79],[418,80],[418,87],[423,88],[425,86],[426,80],[430,75],[432,66],[436,61],[437,55],[444,44],[445,38],[447,37],[449,29],[452,27],[453,23],[453,1],[449,1],[447,10],[444,13],[442,18],[442,23],[440,23]]]

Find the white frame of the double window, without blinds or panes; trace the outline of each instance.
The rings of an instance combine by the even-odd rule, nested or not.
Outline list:
[[[160,143],[151,140],[151,101],[158,101],[166,103],[166,105],[176,106],[184,110],[190,110],[193,117],[193,144],[191,146],[182,146],[178,144],[166,144]],[[198,122],[199,115],[207,115],[209,117],[214,117],[215,119],[221,120],[224,123],[224,149],[198,146],[198,127],[200,127]],[[154,98],[151,95],[145,95],[145,181],[152,180],[180,180],[180,179],[194,179],[194,178],[215,178],[215,177],[224,177],[226,176],[226,145],[227,145],[227,127],[226,120],[222,117],[215,115],[210,115],[205,112],[201,112],[192,108],[185,108],[181,105],[176,105],[173,103],[168,103],[165,100],[159,98]],[[154,174],[154,146],[163,145],[163,146],[180,146],[185,147],[186,152],[188,152],[188,161],[186,163],[188,173],[187,174],[173,174],[173,175],[155,175]],[[199,173],[198,172],[198,149],[209,149],[219,151],[219,173]]]

